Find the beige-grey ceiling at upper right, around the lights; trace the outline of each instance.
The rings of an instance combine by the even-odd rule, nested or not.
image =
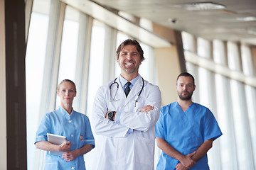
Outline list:
[[[211,1],[226,6],[225,10],[188,11],[176,4],[200,1],[181,0],[95,0],[97,4],[125,11],[134,16],[154,21],[162,26],[186,31],[208,40],[240,41],[248,38],[256,45],[256,21],[238,21],[245,16],[256,17],[256,1],[222,0]],[[204,1],[201,1],[204,2]],[[174,19],[176,22],[170,22]],[[248,33],[248,30],[254,30]],[[255,40],[254,40],[255,39]]]

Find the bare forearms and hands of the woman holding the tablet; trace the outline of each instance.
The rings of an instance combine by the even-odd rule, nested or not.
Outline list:
[[[63,159],[66,159],[66,162],[73,161],[75,158],[77,158],[80,155],[86,154],[92,149],[92,145],[86,144],[85,146],[81,147],[80,149],[75,149],[73,151],[70,151],[71,142],[65,142],[62,145],[53,145],[52,143],[48,141],[40,141],[36,142],[36,148],[42,149],[45,151],[62,151],[65,152],[62,157]]]

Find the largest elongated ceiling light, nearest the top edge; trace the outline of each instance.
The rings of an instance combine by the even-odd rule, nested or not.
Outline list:
[[[193,4],[178,4],[175,5],[179,8],[186,8],[188,11],[201,11],[201,10],[210,10],[210,9],[221,9],[225,8],[225,6],[220,4],[215,4],[212,2],[198,2]]]

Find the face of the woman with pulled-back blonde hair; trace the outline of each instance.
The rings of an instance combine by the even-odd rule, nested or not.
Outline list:
[[[69,81],[62,82],[57,90],[58,96],[60,96],[61,106],[71,105],[73,103],[73,99],[76,96],[75,86]]]

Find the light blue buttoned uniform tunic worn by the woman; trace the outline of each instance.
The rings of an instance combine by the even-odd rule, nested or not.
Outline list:
[[[36,142],[47,141],[47,133],[62,135],[72,143],[70,150],[80,149],[86,144],[95,147],[95,140],[92,135],[89,118],[73,110],[68,114],[62,107],[57,110],[46,113],[38,131],[36,132]],[[35,143],[36,143],[35,142]],[[62,157],[46,152],[45,169],[85,169],[83,155],[75,160],[65,162]]]

